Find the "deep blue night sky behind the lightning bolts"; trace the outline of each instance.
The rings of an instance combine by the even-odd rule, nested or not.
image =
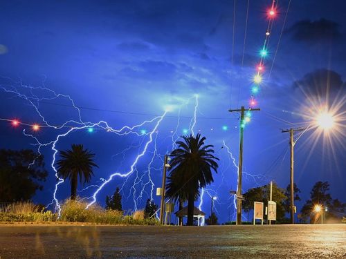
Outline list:
[[[234,219],[229,191],[236,189],[237,169],[223,141],[237,162],[239,114],[228,109],[249,106],[252,78],[268,25],[266,10],[271,6],[269,0],[249,1],[245,35],[247,2],[237,1],[233,24],[231,0],[3,1],[0,118],[41,126],[44,120],[54,126],[78,121],[71,97],[80,107],[82,122],[104,120],[119,129],[154,119],[170,107],[127,182],[114,177],[97,195],[98,202],[104,204],[106,195],[123,186],[123,208],[134,209],[136,200],[140,209],[151,192],[151,184],[145,184],[149,182],[148,164],[152,161],[149,167],[156,189],[161,185],[162,158],[172,151],[172,139],[184,129],[190,128],[191,133],[198,95],[192,130],[206,136],[220,158],[215,182],[207,189],[218,197],[215,209],[219,221]],[[289,1],[278,1],[263,82],[255,97],[261,111],[254,112],[245,127],[247,174],[243,188],[246,191],[270,180],[286,188],[289,135],[281,131],[308,126],[318,108],[328,103],[338,118],[336,130],[318,137],[319,130],[314,128],[295,146],[295,182],[302,191],[298,209],[319,180],[328,181],[332,197],[345,202],[345,114],[338,115],[345,113],[346,5],[344,1],[292,0],[285,21],[288,6]],[[62,95],[56,97],[53,91]],[[25,97],[37,105],[44,120]],[[138,135],[120,136],[97,126],[89,133],[83,128],[61,137],[55,147],[84,144],[95,153],[100,168],[95,169],[91,184],[98,185],[100,178],[107,179],[111,173],[129,171],[149,141],[149,135],[140,135],[140,131],[150,133],[156,122],[136,128]],[[0,147],[13,149],[36,149],[32,144],[37,141],[52,142],[69,130],[45,127],[34,133],[30,126],[12,128],[3,121],[0,128]],[[24,129],[36,140],[24,135]],[[49,175],[34,200],[48,204],[56,183],[52,145],[42,146],[41,151]],[[134,182],[137,184],[131,188]],[[88,198],[95,189],[92,186],[79,195]],[[155,195],[156,191],[154,201],[158,204]],[[57,198],[68,196],[69,184],[65,182]],[[202,209],[209,214],[210,197],[206,193],[204,198]]]

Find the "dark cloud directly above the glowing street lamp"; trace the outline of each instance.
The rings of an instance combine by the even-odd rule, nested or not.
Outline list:
[[[341,75],[327,69],[314,70],[293,83],[294,88],[301,88],[305,93],[318,96],[325,96],[328,92],[338,92],[344,89],[344,86]]]

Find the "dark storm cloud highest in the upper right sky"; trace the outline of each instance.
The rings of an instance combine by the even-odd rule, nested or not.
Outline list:
[[[313,42],[329,41],[331,39],[340,39],[340,24],[320,19],[318,21],[302,20],[291,26],[287,32],[291,33],[295,41]]]

